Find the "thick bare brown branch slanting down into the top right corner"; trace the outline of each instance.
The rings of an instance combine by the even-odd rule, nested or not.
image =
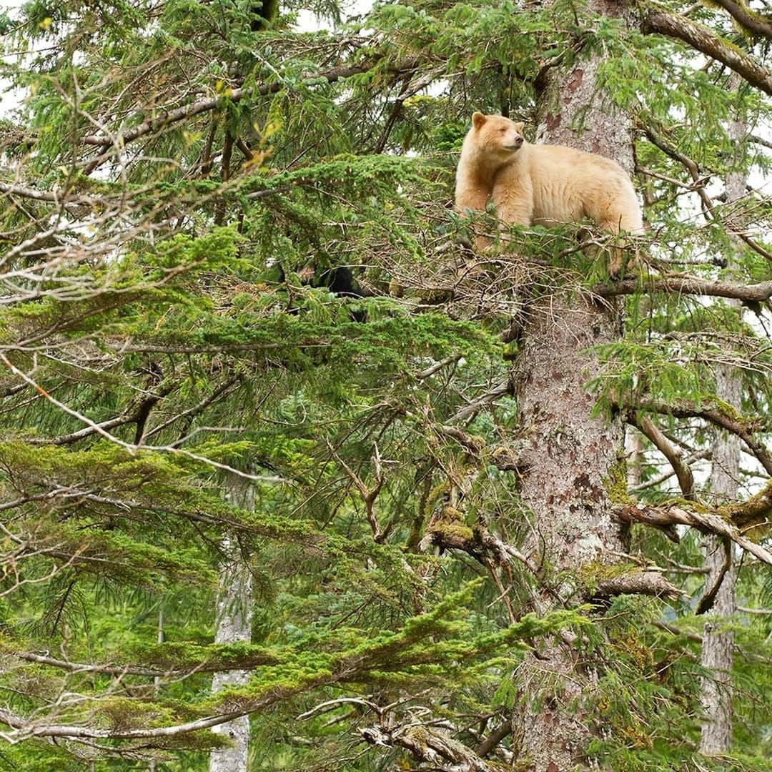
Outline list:
[[[685,16],[660,10],[649,13],[643,19],[641,29],[643,32],[656,32],[671,38],[676,38],[703,52],[711,59],[716,59],[738,75],[742,76],[751,86],[764,91],[772,96],[772,72],[763,64],[757,62],[736,46],[716,36],[705,25],[692,22]]]

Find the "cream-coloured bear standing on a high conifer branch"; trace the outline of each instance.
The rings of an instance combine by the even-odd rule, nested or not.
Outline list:
[[[589,217],[599,228],[642,233],[632,183],[615,161],[563,145],[533,145],[523,124],[500,115],[472,115],[455,175],[455,208],[484,211],[493,201],[506,225],[557,225]],[[487,245],[489,239],[476,239]],[[612,261],[611,275],[621,267]]]

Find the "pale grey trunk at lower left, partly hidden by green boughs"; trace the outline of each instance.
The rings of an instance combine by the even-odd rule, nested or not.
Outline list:
[[[229,499],[245,510],[255,508],[255,488],[242,477],[231,476],[227,483]],[[239,544],[232,534],[222,540],[223,563],[217,593],[215,643],[252,640],[252,574],[245,564]],[[249,677],[245,670],[215,673],[212,692],[224,686],[241,686]],[[209,772],[246,772],[249,752],[249,716],[215,726],[213,732],[225,735],[229,747],[212,750]]]

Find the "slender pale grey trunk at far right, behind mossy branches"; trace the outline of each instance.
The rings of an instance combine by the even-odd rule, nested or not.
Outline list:
[[[734,77],[734,86],[739,78]],[[746,134],[742,119],[733,121],[729,127],[730,137],[741,147]],[[726,200],[736,201],[745,195],[745,174],[733,171],[726,175]],[[741,244],[733,239],[738,248]],[[736,300],[727,303],[740,307]],[[716,365],[716,396],[740,409],[742,384],[740,375],[732,367]],[[710,489],[716,503],[732,501],[737,497],[740,478],[740,440],[736,435],[717,432],[713,442],[713,467],[710,473]],[[720,577],[724,563],[723,544],[716,537],[706,539],[706,564],[709,573],[706,588],[713,587]],[[737,611],[735,597],[736,568],[734,564],[723,577],[723,583],[716,594],[713,609],[709,612],[703,631],[701,662],[709,674],[702,682],[702,703],[705,721],[699,740],[699,750],[706,754],[725,753],[732,743],[732,648],[734,635],[723,631],[721,619],[731,617]]]

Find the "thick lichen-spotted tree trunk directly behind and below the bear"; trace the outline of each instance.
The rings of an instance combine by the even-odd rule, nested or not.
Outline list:
[[[621,15],[624,5],[591,0],[596,12]],[[598,92],[596,59],[553,70],[539,104],[537,142],[566,144],[633,167],[631,122]],[[581,133],[577,131],[581,127]],[[529,471],[520,496],[530,507],[533,536],[527,547],[546,569],[554,591],[569,597],[567,579],[588,564],[608,564],[625,551],[625,535],[611,519],[608,479],[621,469],[625,432],[621,418],[592,418],[594,398],[585,384],[600,364],[589,349],[621,337],[621,313],[559,289],[529,308],[523,345],[513,372],[520,424],[530,442]],[[569,573],[570,572],[570,573]],[[545,601],[549,598],[545,595]],[[581,670],[575,652],[554,642],[524,663],[520,761],[535,772],[587,768],[591,716],[582,708],[594,675]]]

